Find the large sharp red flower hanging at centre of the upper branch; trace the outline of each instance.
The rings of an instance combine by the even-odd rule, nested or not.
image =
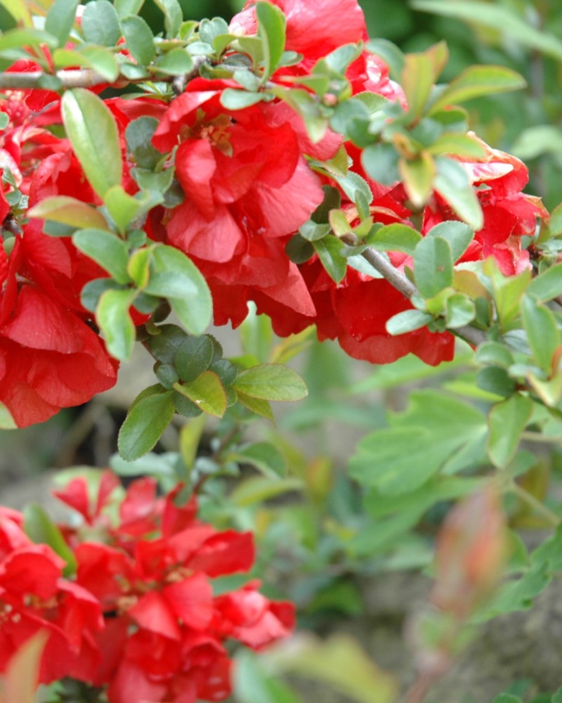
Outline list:
[[[191,82],[152,139],[162,151],[181,141],[176,173],[185,200],[171,212],[167,236],[207,278],[216,323],[230,318],[240,324],[247,300],[258,294],[273,307],[294,307],[312,317],[306,286],[285,254],[287,240],[323,196],[301,155],[304,130],[285,105],[225,110],[219,98],[228,86]],[[336,138],[319,149],[327,156],[338,146]]]

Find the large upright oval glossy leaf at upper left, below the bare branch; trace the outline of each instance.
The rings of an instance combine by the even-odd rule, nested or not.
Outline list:
[[[110,5],[107,0],[96,2]],[[112,186],[121,185],[123,173],[115,118],[98,96],[84,88],[66,91],[61,105],[74,153],[92,188],[103,198]]]

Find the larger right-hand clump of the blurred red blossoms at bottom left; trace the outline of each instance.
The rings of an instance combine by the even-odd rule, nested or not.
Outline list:
[[[231,667],[225,640],[257,650],[286,637],[293,605],[270,602],[255,580],[214,595],[210,579],[251,568],[253,539],[198,521],[195,497],[176,505],[181,485],[159,498],[153,479],[134,481],[114,525],[109,509],[117,489],[107,471],[93,503],[82,478],[55,491],[84,520],[64,534],[77,560],[77,584],[105,617],[96,633],[101,661],[89,681],[107,685],[112,703],[223,700]],[[100,541],[90,541],[93,535]]]

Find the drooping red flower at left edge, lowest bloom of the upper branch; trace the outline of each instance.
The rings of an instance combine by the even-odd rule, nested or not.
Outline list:
[[[112,387],[117,363],[86,323],[37,285],[18,283],[22,253],[19,237],[8,262],[0,249],[0,401],[26,427]]]

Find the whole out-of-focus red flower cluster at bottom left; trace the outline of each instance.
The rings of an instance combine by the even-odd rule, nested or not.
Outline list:
[[[256,580],[214,594],[213,579],[251,569],[252,536],[200,522],[195,498],[182,505],[181,491],[158,497],[147,478],[124,493],[108,471],[93,503],[82,477],[55,491],[81,516],[61,528],[72,578],[60,555],[27,537],[20,513],[1,508],[0,671],[46,631],[43,683],[75,678],[107,688],[112,703],[228,697],[226,641],[259,650],[292,631],[294,607],[265,598]]]

